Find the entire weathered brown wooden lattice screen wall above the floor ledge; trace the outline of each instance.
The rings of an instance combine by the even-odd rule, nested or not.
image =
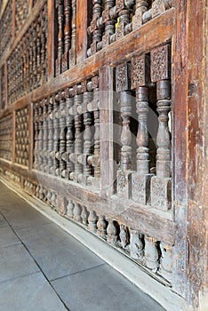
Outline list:
[[[12,115],[12,161],[1,158],[0,170],[61,215],[127,252],[154,277],[162,275],[188,306],[197,309],[203,304],[207,282],[207,4],[205,0],[136,0],[133,8],[132,2],[127,3],[107,0],[101,6],[100,1],[89,5],[86,0],[48,0],[48,19],[44,19],[44,2],[29,0],[28,19],[18,32],[21,18],[11,15],[12,45],[0,57],[5,76],[0,90],[5,108],[0,110],[0,119]],[[13,11],[18,5],[22,5],[20,0],[12,1]],[[44,51],[40,46],[46,41]],[[19,56],[26,46],[30,52],[23,53],[26,66],[22,69]],[[16,64],[13,71],[8,60],[10,65]],[[142,67],[141,60],[146,66]],[[46,66],[39,70],[41,61]],[[30,63],[21,81],[22,70]],[[36,83],[46,69],[48,82],[44,78],[42,85]],[[19,82],[30,88],[21,92]],[[11,86],[18,92],[18,100],[11,100]],[[135,95],[132,106],[126,97],[129,93]],[[152,150],[146,132],[147,108],[156,112],[156,101],[157,161],[149,159]],[[25,122],[20,126],[18,117],[24,109],[28,109],[28,127]],[[134,123],[132,111],[137,116]],[[114,122],[121,128],[116,133],[110,126]],[[92,124],[95,130],[91,131]],[[19,132],[15,131],[18,126]],[[128,135],[133,127],[137,127],[137,146]],[[21,153],[25,148],[20,145],[24,145],[26,130],[28,156],[23,155],[23,160],[19,156],[15,163],[15,150],[20,148]],[[78,137],[83,130],[84,137]],[[38,134],[43,137],[41,142]],[[116,136],[119,147],[114,144]],[[90,146],[90,140],[94,145]],[[22,161],[28,166],[20,164]],[[124,179],[128,179],[127,187]],[[132,180],[137,181],[136,186]],[[149,188],[152,198],[156,189],[152,203],[149,195],[142,196],[144,188]],[[159,206],[161,201],[165,203]]]

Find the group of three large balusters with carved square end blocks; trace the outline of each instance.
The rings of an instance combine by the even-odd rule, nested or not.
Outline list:
[[[138,118],[136,150],[133,149],[130,132],[134,105],[132,90],[135,92]],[[156,94],[155,110],[149,106],[149,94],[153,90]],[[168,124],[171,112],[171,46],[158,47],[150,55],[135,55],[130,62],[118,65],[116,92],[119,94],[123,125],[117,193],[168,211],[171,209],[171,128]],[[154,125],[156,122],[158,128]],[[156,139],[156,146],[152,148],[156,154],[156,176],[149,167],[149,133]],[[132,173],[133,152],[137,157],[137,170]]]

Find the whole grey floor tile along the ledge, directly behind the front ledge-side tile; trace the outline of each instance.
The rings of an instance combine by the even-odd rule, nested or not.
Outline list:
[[[20,229],[17,235],[27,245],[49,280],[104,263],[54,224]]]

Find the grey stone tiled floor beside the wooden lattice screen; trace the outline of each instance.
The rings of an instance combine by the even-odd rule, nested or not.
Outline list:
[[[164,308],[0,183],[0,310]]]

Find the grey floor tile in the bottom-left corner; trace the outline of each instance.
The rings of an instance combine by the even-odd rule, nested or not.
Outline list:
[[[52,287],[41,273],[0,283],[1,311],[64,311]]]

